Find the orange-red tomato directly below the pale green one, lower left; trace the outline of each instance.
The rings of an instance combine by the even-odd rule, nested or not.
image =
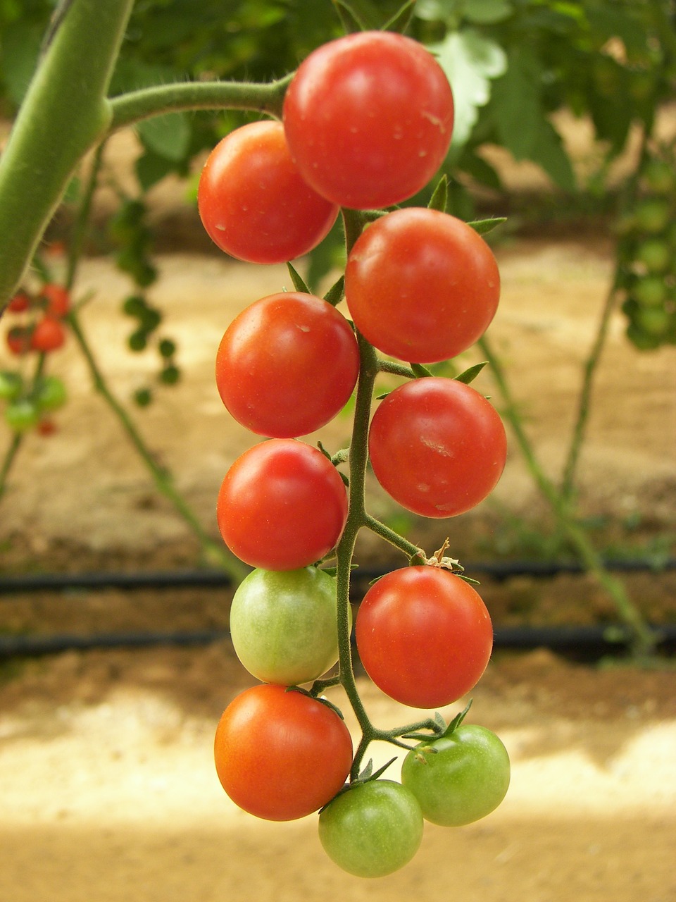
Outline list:
[[[352,737],[323,702],[261,684],[225,709],[214,758],[236,805],[269,821],[293,821],[318,811],[343,787],[352,767]]]

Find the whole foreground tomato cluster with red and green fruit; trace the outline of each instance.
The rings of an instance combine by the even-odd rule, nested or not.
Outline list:
[[[373,474],[395,502],[423,517],[456,516],[489,494],[506,461],[505,430],[489,401],[423,365],[461,354],[489,327],[500,289],[489,245],[441,209],[376,209],[425,187],[448,151],[452,120],[451,87],[416,41],[352,34],[297,69],[281,123],[242,126],[215,147],[198,189],[207,233],[247,262],[288,262],[321,242],[340,211],[369,211],[348,249],[344,290],[339,281],[323,299],[295,278],[296,290],[234,318],[215,353],[225,408],[264,439],[234,461],[216,503],[224,543],[253,568],[233,595],[230,630],[242,665],[260,681],[223,713],[216,771],[253,815],[291,820],[319,811],[325,851],[364,877],[410,861],[425,819],[460,825],[489,814],[509,780],[504,746],[485,728],[465,726],[465,712],[449,726],[437,714],[426,732],[397,733],[407,741],[369,725],[368,741],[409,749],[401,781],[380,779],[361,770],[363,742],[352,758],[342,715],[322,696],[343,685],[366,729],[354,704],[352,609],[325,565],[335,555],[339,574],[349,572],[353,537],[375,521],[364,511],[365,466],[359,472],[351,462],[348,491],[338,466],[349,455],[332,457],[302,437],[343,410],[355,385],[369,385],[370,397],[373,362],[386,369],[389,361],[408,381],[380,401],[370,423],[358,425],[355,414],[353,443],[360,428]],[[343,298],[350,318],[336,308]],[[427,559],[402,541],[414,548],[415,566],[370,587],[356,615],[356,647],[384,693],[434,709],[476,685],[492,626],[457,562],[443,552]]]

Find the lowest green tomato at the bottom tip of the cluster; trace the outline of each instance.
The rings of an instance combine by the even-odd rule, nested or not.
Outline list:
[[[385,877],[403,868],[423,839],[416,796],[393,780],[358,783],[319,815],[319,840],[329,858],[355,877]]]

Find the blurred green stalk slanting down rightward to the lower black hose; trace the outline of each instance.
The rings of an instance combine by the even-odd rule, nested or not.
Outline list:
[[[516,442],[538,489],[552,508],[560,529],[569,538],[573,548],[576,549],[583,566],[590,574],[594,575],[598,584],[602,586],[615,604],[617,612],[629,630],[628,644],[635,658],[650,658],[654,653],[656,634],[650,629],[644,621],[641,612],[629,598],[625,585],[615,576],[608,573],[607,567],[590,541],[587,531],[573,520],[570,503],[563,498],[562,492],[544,474],[544,470],[534,454],[533,446],[525,434],[523,423],[516,410],[516,404],[509,389],[507,377],[498,360],[498,356],[493,353],[486,336],[480,338],[479,344],[486,355],[486,359],[489,361],[498,389],[505,401],[506,406],[503,410],[503,415],[512,428]]]

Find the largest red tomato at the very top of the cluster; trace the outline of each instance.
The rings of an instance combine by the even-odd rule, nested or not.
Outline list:
[[[442,164],[453,98],[417,41],[361,32],[300,64],[283,116],[291,156],[319,194],[342,207],[390,207],[423,189]]]

